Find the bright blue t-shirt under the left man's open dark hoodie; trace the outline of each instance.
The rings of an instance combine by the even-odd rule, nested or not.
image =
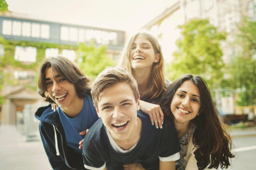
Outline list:
[[[67,146],[74,148],[79,154],[82,153],[82,149],[78,147],[79,141],[81,141],[84,136],[80,135],[79,132],[89,129],[98,119],[92,97],[90,95],[84,97],[83,108],[80,114],[75,118],[67,117],[60,107],[57,108],[57,111],[65,132]]]

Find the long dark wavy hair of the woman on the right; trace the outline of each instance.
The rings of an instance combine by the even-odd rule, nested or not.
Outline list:
[[[231,137],[225,130],[223,117],[212,101],[207,83],[200,76],[186,74],[172,82],[161,100],[163,112],[169,120],[174,122],[175,118],[170,105],[175,92],[185,81],[192,81],[200,92],[200,113],[191,122],[196,125],[193,144],[199,147],[203,154],[203,168],[208,165],[208,168],[217,168],[219,165],[227,168],[230,165],[229,158],[234,158],[231,153]]]

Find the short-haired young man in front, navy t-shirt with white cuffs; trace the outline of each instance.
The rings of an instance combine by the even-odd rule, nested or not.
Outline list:
[[[143,169],[175,169],[180,144],[174,126],[165,121],[163,129],[151,125],[139,111],[136,80],[121,68],[101,72],[92,85],[98,117],[83,141],[86,169],[123,169],[140,163]]]

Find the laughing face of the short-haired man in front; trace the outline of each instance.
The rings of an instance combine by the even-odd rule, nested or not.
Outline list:
[[[113,139],[131,138],[137,123],[139,100],[126,82],[107,87],[99,95],[98,116],[102,119]]]

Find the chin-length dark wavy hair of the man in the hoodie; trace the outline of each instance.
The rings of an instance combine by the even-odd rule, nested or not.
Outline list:
[[[78,97],[84,98],[87,94],[90,94],[91,80],[84,75],[78,65],[63,56],[58,56],[56,58],[51,57],[46,59],[40,67],[37,87],[37,92],[42,97],[45,97],[46,102],[54,103],[54,101],[46,94],[45,74],[46,70],[50,67],[52,67],[53,73],[57,72],[60,76],[74,84],[75,92],[78,94]],[[57,81],[55,76],[54,79]]]

